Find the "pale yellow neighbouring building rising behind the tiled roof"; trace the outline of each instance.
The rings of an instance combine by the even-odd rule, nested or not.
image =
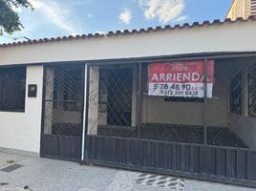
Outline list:
[[[227,12],[226,18],[236,20],[238,17],[244,19],[250,15],[256,14],[256,0],[233,0],[233,3]]]

